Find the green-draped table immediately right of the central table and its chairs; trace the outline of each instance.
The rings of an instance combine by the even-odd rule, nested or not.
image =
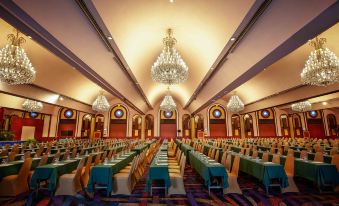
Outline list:
[[[214,160],[210,160],[209,163],[206,163],[199,158],[198,154],[193,152],[189,152],[189,159],[191,166],[204,179],[205,186],[211,186],[212,177],[221,177],[222,187],[228,187],[228,176],[224,165],[219,164]]]

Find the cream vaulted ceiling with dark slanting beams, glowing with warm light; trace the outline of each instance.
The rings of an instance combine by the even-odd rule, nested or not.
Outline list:
[[[140,113],[165,95],[150,70],[172,28],[189,78],[171,93],[196,113],[234,91],[253,109],[275,106],[280,95],[285,103],[311,97],[312,88],[300,88],[311,51],[305,42],[325,31],[321,36],[339,55],[338,9],[335,0],[14,0],[0,2],[0,17],[33,37],[24,48],[37,70],[36,86],[85,104],[104,89]],[[0,27],[3,45],[12,28],[3,20]],[[305,95],[284,97],[296,88]]]

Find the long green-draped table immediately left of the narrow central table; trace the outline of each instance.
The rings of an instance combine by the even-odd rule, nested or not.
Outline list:
[[[96,184],[107,186],[107,195],[112,192],[113,175],[118,173],[121,169],[130,163],[136,152],[129,152],[107,164],[100,164],[92,167],[90,178],[87,184],[87,191],[93,192]]]

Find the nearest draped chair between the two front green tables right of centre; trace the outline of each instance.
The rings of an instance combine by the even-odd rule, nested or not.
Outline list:
[[[242,194],[242,191],[238,184],[239,164],[240,164],[240,156],[236,155],[233,161],[232,171],[227,172],[228,187],[224,189],[224,194],[228,194],[228,193]]]

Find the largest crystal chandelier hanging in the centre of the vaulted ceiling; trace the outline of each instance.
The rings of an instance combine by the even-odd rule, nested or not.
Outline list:
[[[188,67],[174,48],[177,40],[172,37],[172,30],[168,29],[167,33],[167,37],[163,39],[164,49],[152,66],[151,76],[158,83],[180,84],[188,78]]]

